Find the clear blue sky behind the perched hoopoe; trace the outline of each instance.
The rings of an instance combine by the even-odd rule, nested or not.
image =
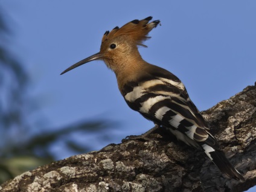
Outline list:
[[[133,19],[161,20],[140,53],[181,78],[199,110],[256,81],[255,1],[5,0],[0,5],[14,31],[9,49],[31,76],[31,95],[42,95],[39,104],[49,127],[99,117],[117,121],[120,129],[111,133],[115,143],[153,127],[129,109],[114,72],[103,62],[59,75],[97,53],[106,30]],[[95,143],[95,150],[107,144],[86,139]]]

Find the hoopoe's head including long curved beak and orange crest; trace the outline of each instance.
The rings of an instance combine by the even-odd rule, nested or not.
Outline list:
[[[142,20],[135,19],[123,27],[115,27],[112,31],[106,31],[103,35],[100,52],[75,63],[61,73],[70,71],[92,60],[104,60],[106,65],[116,71],[129,57],[140,57],[137,46],[145,46],[142,43],[149,39],[147,34],[160,24],[159,20],[150,22],[152,17]]]

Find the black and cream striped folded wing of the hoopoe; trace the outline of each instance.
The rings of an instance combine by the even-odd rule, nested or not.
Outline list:
[[[178,78],[147,74],[138,83],[127,83],[123,96],[133,110],[157,124],[175,127],[194,141],[208,138],[205,121]]]

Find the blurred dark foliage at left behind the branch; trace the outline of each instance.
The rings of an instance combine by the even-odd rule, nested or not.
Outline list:
[[[30,78],[27,71],[7,49],[6,45],[10,45],[10,37],[13,34],[5,22],[6,15],[8,14],[0,7],[0,183],[24,171],[54,161],[50,149],[58,140],[65,142],[61,149],[63,153],[65,150],[72,154],[91,150],[85,143],[79,144],[70,139],[71,133],[99,133],[99,140],[106,141],[107,132],[103,135],[100,134],[100,130],[110,127],[110,123],[103,120],[82,121],[58,129],[47,129],[42,123],[40,125],[31,122],[31,113],[40,110],[40,107],[37,107],[36,102],[28,95]],[[33,129],[40,131],[34,133]]]

